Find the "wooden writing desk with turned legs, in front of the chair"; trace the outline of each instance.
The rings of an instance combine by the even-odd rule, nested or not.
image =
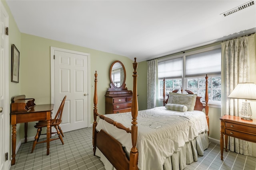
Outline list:
[[[11,125],[12,125],[12,165],[15,164],[15,151],[16,151],[16,124],[26,123],[31,121],[47,120],[47,155],[50,153],[50,119],[51,111],[53,110],[53,104],[36,105],[28,111],[24,112],[12,112]]]

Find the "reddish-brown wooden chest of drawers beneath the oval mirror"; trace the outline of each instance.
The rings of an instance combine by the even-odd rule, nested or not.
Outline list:
[[[106,114],[132,111],[132,91],[107,91]]]

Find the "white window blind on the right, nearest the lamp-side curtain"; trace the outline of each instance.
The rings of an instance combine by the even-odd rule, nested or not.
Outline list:
[[[221,49],[186,56],[186,77],[220,75]]]

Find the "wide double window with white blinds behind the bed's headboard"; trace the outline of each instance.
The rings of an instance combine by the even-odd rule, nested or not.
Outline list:
[[[165,78],[166,94],[182,88],[202,96],[204,100],[206,74],[208,75],[209,103],[220,104],[221,49],[219,46],[159,59],[158,98],[163,98],[163,79]]]

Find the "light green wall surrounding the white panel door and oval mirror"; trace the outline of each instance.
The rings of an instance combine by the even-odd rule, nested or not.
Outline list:
[[[111,64],[119,60],[126,69],[126,87],[132,90],[132,63],[127,57],[88,49],[60,41],[45,39],[34,35],[21,33],[22,55],[20,57],[20,84],[21,94],[26,98],[35,98],[36,104],[50,104],[50,47],[58,47],[73,51],[90,53],[90,122],[93,123],[93,96],[94,96],[94,73],[98,73],[98,112],[104,114],[105,93],[110,87],[109,71]],[[34,137],[36,129],[34,122],[28,124],[28,137]],[[20,129],[24,133],[23,129]]]

